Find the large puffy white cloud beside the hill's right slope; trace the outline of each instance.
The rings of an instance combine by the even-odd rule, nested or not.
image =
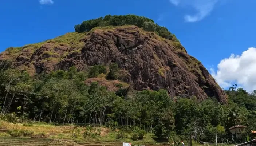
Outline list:
[[[210,69],[212,76],[223,88],[237,83],[247,91],[256,90],[256,48],[248,48],[241,55],[231,54],[218,64],[217,72]]]

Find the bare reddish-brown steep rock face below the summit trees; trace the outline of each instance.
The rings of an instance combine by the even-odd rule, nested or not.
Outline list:
[[[79,41],[84,42],[81,49],[52,42],[42,44],[33,53],[22,49],[15,64],[40,73],[71,66],[83,70],[87,65],[115,62],[129,72],[126,82],[132,82],[135,90],[164,88],[171,97],[194,95],[204,100],[215,96],[219,102],[227,102],[225,92],[206,68],[178,42],[134,26],[95,29]],[[54,53],[46,53],[50,50]],[[6,52],[0,54],[0,59],[4,58],[8,58]]]

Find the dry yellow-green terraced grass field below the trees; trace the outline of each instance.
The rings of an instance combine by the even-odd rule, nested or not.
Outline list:
[[[127,133],[123,139],[117,139],[118,130],[92,128],[93,132],[97,130],[97,134],[84,137],[86,127],[54,126],[45,123],[15,124],[0,121],[0,146],[122,146],[122,142],[130,142],[133,146],[168,144],[156,142],[151,133],[145,134],[140,141],[133,141],[132,133]],[[194,143],[193,146],[200,144]]]

